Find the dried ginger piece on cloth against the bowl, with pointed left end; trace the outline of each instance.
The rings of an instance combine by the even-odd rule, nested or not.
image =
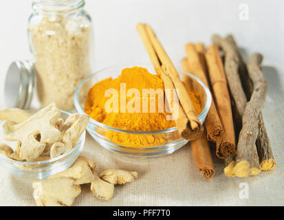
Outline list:
[[[87,159],[87,157],[79,156],[76,162],[67,170],[61,173],[56,173],[49,177],[49,179],[65,177],[74,180],[74,184],[89,184],[94,180],[93,170],[96,163]]]

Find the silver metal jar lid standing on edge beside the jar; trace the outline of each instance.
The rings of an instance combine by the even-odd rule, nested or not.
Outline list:
[[[6,107],[28,109],[32,102],[35,80],[32,62],[14,61],[11,63],[5,81]]]

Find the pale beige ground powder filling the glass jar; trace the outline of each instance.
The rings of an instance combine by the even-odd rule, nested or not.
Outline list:
[[[39,101],[74,109],[74,91],[91,74],[91,25],[80,18],[43,17],[29,33]]]

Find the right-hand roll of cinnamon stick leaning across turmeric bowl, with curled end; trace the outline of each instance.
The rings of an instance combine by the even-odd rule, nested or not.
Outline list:
[[[146,34],[149,37],[149,41],[153,46],[155,54],[157,54],[162,71],[166,74],[166,76],[171,78],[175,89],[178,90],[177,96],[179,98],[179,102],[184,110],[184,113],[186,114],[186,117],[188,118],[186,129],[182,131],[182,137],[184,137],[186,140],[195,140],[202,135],[204,129],[197,118],[193,104],[187,94],[186,89],[184,88],[184,85],[182,84],[182,81],[179,78],[177,70],[171,62],[171,59],[166,54],[160,41],[157,39],[157,36],[155,36],[152,28],[149,25],[144,25],[144,28],[146,29]]]

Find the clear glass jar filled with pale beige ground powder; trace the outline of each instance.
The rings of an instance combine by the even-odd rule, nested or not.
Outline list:
[[[74,91],[92,72],[93,28],[84,0],[36,0],[28,25],[36,93],[44,107],[74,109]]]

